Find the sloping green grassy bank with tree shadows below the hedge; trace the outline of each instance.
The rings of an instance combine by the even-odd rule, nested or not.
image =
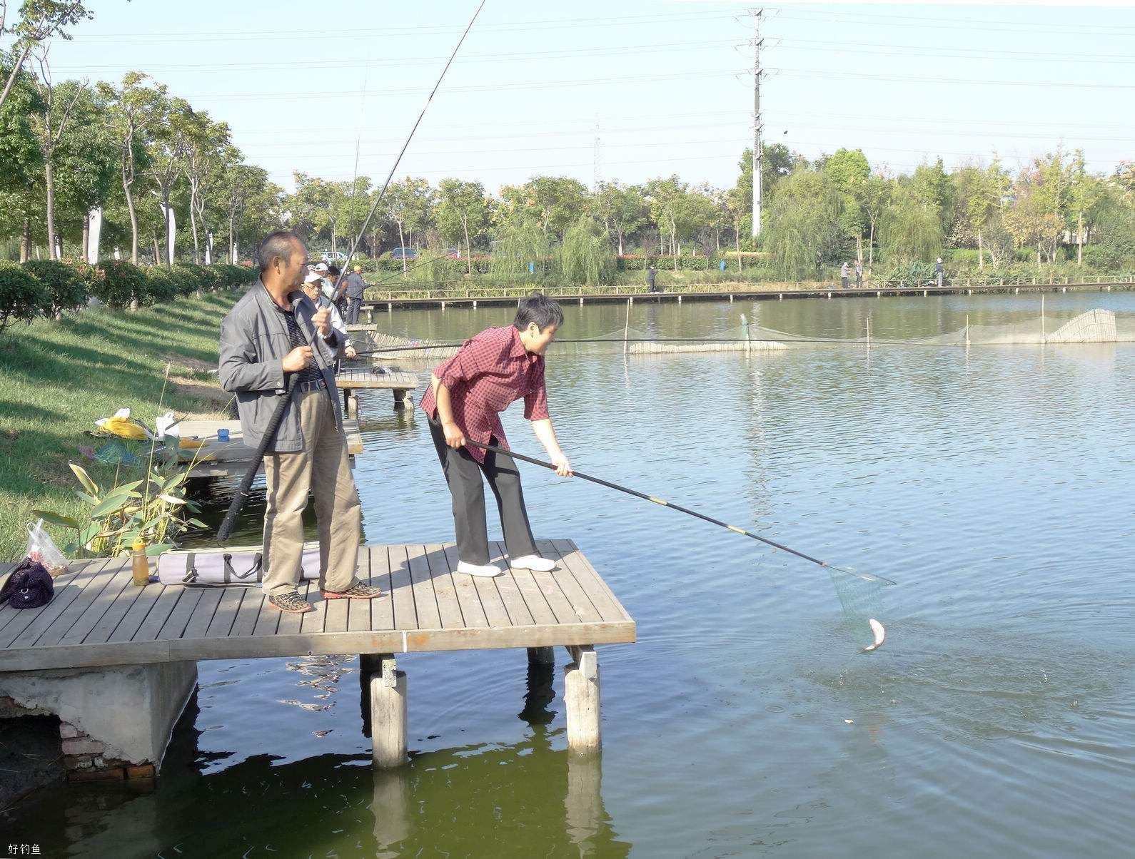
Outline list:
[[[33,508],[79,513],[68,461],[83,463],[96,481],[112,478],[111,466],[78,452],[102,444],[83,435],[99,418],[129,406],[152,427],[169,410],[224,413],[228,396],[209,370],[217,367],[221,317],[237,297],[210,293],[136,313],[84,310],[0,334],[0,561],[23,555]],[[170,381],[159,409],[167,362]],[[62,529],[49,530],[60,546],[69,539]]]

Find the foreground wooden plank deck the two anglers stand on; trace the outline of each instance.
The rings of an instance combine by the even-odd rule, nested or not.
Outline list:
[[[136,588],[128,558],[79,562],[47,606],[0,608],[0,671],[634,641],[634,621],[575,544],[538,545],[554,571],[495,579],[453,572],[452,545],[363,546],[360,576],[385,595],[327,601],[305,581],[317,607],[305,615],[280,614],[260,588]]]

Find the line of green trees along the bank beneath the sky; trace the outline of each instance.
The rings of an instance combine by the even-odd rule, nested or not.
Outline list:
[[[1135,268],[1135,165],[1093,174],[1081,150],[1016,170],[993,158],[948,171],[938,159],[893,174],[858,149],[808,159],[766,145],[756,242],[751,150],[731,187],[678,175],[596,187],[536,176],[489,193],[463,178],[407,176],[392,184],[359,235],[378,193],[369,177],[295,172],[288,193],[246,162],[225,123],[143,71],[118,83],[53,81],[49,37],[66,37],[66,27],[89,15],[82,3],[25,0],[9,26],[16,42],[0,57],[0,256],[84,259],[96,230],[102,256],[166,267],[235,263],[283,227],[316,253],[358,242],[372,258],[396,247],[448,252],[466,276],[488,258],[497,273],[555,269],[581,283],[609,280],[615,261],[628,256],[675,270],[690,258],[705,268],[726,258],[740,268],[748,259],[794,279],[852,259],[893,268],[940,255],[976,271],[1026,259],[1036,267]],[[398,254],[404,273],[409,255]]]

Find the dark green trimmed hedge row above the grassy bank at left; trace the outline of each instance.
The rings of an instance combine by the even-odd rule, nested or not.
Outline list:
[[[34,260],[0,262],[0,330],[17,319],[54,317],[95,298],[110,308],[148,306],[179,295],[249,284],[255,273],[241,266],[134,266]]]

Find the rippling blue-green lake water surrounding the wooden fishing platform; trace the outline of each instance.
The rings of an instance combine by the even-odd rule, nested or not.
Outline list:
[[[1046,297],[1069,318],[1128,293]],[[637,303],[633,329],[955,330],[1036,296]],[[625,308],[569,306],[564,337]],[[380,314],[460,339],[507,308]],[[1051,330],[1051,329],[1050,329]],[[1135,839],[1135,345],[549,353],[573,464],[898,582],[859,655],[827,573],[523,468],[638,622],[599,648],[604,750],[565,751],[523,651],[400,657],[412,763],[373,773],[356,657],[201,663],[155,790],[61,786],[0,818],[47,856],[1087,856]],[[428,369],[426,369],[428,373]],[[370,542],[452,539],[426,422],[363,398]],[[520,414],[515,449],[543,456]],[[215,519],[224,498],[218,498]],[[262,500],[246,512],[255,540]],[[490,516],[493,519],[493,516]],[[493,523],[490,536],[498,536]]]

